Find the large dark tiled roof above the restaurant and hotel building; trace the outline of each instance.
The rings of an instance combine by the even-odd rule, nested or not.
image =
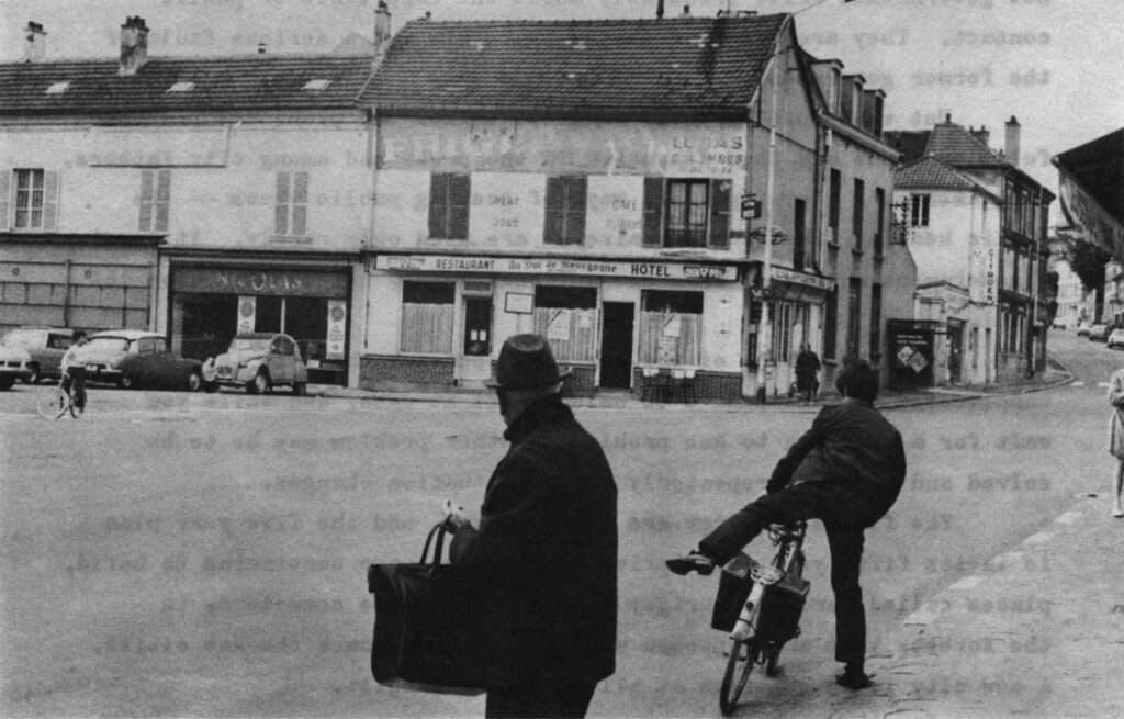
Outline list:
[[[391,115],[744,117],[786,17],[415,20],[363,100]]]

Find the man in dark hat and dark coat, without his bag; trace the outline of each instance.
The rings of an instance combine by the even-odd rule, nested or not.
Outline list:
[[[617,486],[598,442],[562,402],[540,335],[509,337],[496,391],[511,443],[480,528],[452,515],[451,556],[488,586],[487,717],[583,717],[615,671]]]

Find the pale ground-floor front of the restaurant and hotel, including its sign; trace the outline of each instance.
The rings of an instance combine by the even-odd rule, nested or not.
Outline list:
[[[575,393],[638,391],[654,367],[694,371],[699,399],[741,397],[736,264],[379,254],[366,265],[366,389],[480,386],[504,338],[534,331]]]

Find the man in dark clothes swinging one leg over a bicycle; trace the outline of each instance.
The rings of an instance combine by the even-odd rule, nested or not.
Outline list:
[[[867,618],[859,585],[863,531],[897,500],[906,457],[901,435],[874,409],[878,375],[870,365],[847,363],[835,386],[843,402],[819,411],[777,464],[768,493],[719,525],[698,549],[669,559],[668,568],[709,574],[772,524],[822,520],[832,555],[835,659],[845,664],[835,681],[863,689],[871,684],[864,671]]]

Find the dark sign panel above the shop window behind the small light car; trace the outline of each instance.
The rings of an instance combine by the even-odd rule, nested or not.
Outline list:
[[[345,299],[347,275],[301,270],[182,267],[173,271],[172,289],[175,292]]]

